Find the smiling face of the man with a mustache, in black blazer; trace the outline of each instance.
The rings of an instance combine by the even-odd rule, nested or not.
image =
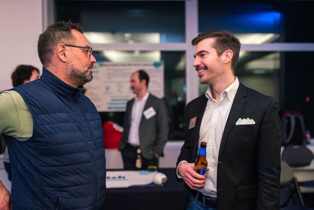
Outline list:
[[[207,38],[197,43],[193,66],[198,72],[200,84],[213,84],[218,82],[224,74],[223,55],[218,56],[213,48],[215,38]]]

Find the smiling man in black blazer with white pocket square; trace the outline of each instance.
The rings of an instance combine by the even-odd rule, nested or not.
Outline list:
[[[185,142],[177,176],[189,189],[186,210],[278,210],[278,105],[235,77],[240,42],[231,33],[199,34],[194,67],[205,95],[186,107]],[[194,171],[199,143],[207,142],[207,173]]]

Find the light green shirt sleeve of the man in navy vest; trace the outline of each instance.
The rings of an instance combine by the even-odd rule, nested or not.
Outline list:
[[[27,140],[33,135],[33,118],[22,96],[13,91],[0,94],[0,133]]]

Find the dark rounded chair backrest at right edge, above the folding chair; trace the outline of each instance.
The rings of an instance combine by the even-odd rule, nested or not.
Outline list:
[[[290,167],[309,166],[314,155],[305,145],[288,145],[284,148],[281,159]]]

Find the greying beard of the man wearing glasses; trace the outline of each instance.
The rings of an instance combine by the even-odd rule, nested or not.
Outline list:
[[[88,69],[81,71],[77,69],[73,64],[69,64],[67,67],[68,81],[75,86],[81,86],[90,82],[93,79],[93,75],[88,73]]]

